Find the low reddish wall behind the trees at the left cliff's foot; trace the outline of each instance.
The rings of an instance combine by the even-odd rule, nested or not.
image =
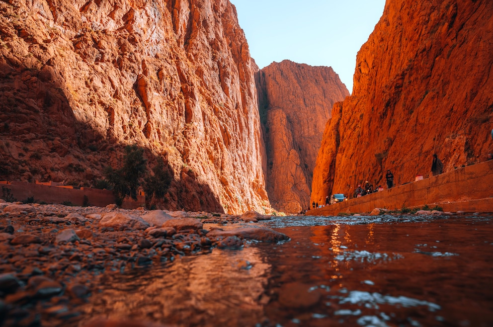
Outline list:
[[[17,201],[33,197],[35,201],[44,201],[51,204],[61,204],[64,201],[68,201],[76,206],[82,206],[84,204],[87,205],[87,203],[84,203],[84,196],[86,196],[90,206],[105,207],[108,204],[115,203],[115,196],[112,191],[97,188],[81,187],[78,189],[71,186],[54,186],[46,185],[46,183],[38,184],[18,181],[1,181],[0,187],[8,188],[10,194]],[[2,194],[0,193],[1,197]],[[145,205],[145,203],[145,195],[137,195],[137,201],[126,198],[122,203],[122,208],[136,209]]]

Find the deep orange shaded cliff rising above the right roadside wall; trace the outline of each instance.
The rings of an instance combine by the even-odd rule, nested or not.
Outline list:
[[[482,162],[492,149],[493,2],[387,1],[326,126],[312,199]]]

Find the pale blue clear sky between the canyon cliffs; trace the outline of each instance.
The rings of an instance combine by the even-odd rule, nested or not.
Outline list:
[[[285,59],[329,66],[352,91],[356,54],[385,0],[230,0],[259,68]]]

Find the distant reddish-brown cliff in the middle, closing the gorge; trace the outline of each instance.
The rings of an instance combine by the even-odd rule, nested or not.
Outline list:
[[[309,207],[312,173],[330,112],[349,95],[330,67],[285,60],[255,75],[267,150],[266,184],[272,207]]]

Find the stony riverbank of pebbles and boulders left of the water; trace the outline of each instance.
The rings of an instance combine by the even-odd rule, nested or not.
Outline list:
[[[265,228],[204,229],[208,223],[270,219],[256,212],[232,216],[2,200],[0,210],[1,326],[77,325],[77,306],[98,289],[102,274],[152,267],[214,247],[241,248],[246,240],[288,239]]]

